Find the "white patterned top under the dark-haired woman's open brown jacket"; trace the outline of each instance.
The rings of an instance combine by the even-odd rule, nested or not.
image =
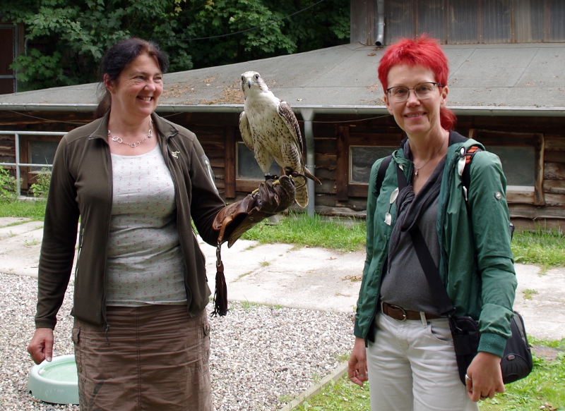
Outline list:
[[[174,185],[159,145],[112,154],[107,305],[186,304]]]

